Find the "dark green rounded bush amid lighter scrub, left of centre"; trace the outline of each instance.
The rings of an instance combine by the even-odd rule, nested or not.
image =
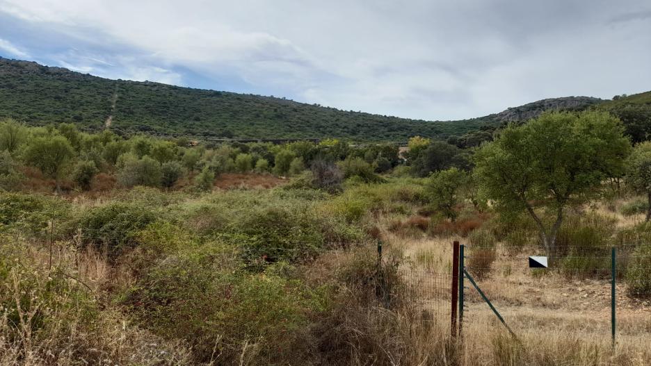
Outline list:
[[[152,210],[138,203],[112,202],[83,213],[78,227],[85,244],[92,244],[115,256],[137,244],[137,234],[156,221]]]

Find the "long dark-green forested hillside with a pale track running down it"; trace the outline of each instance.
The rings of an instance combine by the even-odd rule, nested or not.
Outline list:
[[[543,110],[584,109],[587,97],[545,99],[474,119],[431,122],[337,110],[287,99],[114,81],[61,67],[0,58],[0,117],[31,125],[73,122],[86,131],[225,138],[346,138],[406,141],[492,129]]]

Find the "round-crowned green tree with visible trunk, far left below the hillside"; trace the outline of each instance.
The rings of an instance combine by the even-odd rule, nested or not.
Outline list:
[[[61,176],[74,158],[74,149],[61,135],[33,138],[23,156],[25,162],[54,178],[56,192],[61,192]]]

